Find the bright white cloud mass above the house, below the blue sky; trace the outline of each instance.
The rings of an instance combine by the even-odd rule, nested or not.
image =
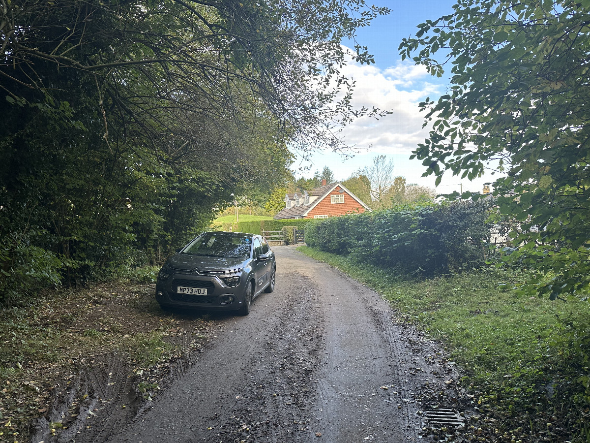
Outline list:
[[[314,171],[321,171],[327,165],[337,179],[344,179],[371,164],[375,155],[385,154],[394,159],[394,175],[404,176],[407,183],[434,187],[435,177],[421,177],[426,168],[421,161],[410,160],[409,156],[419,143],[424,142],[429,131],[428,126],[422,128],[425,114],[420,112],[418,103],[426,97],[435,100],[444,93],[442,80],[431,77],[424,66],[401,60],[384,70],[349,61],[342,73],[356,82],[352,102],[357,108],[375,106],[391,110],[391,115],[379,120],[360,118],[342,129],[339,135],[347,145],[353,146],[356,152],[353,158],[344,160],[332,152],[317,152],[312,155],[311,162],[296,162],[293,167],[303,168],[301,174],[311,177]],[[371,149],[368,149],[369,145]],[[486,177],[470,182],[447,172],[437,191],[480,191],[483,183],[495,178],[486,174]]]

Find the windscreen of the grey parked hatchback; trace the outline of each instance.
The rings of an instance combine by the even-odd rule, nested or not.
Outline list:
[[[251,245],[251,237],[240,234],[207,232],[192,240],[182,250],[182,253],[245,259],[250,257]]]

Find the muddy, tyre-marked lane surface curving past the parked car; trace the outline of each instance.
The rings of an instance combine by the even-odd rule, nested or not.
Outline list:
[[[276,289],[250,315],[212,315],[210,345],[148,408],[127,422],[91,418],[73,441],[428,441],[421,395],[444,396],[456,379],[435,344],[371,289],[274,250]]]

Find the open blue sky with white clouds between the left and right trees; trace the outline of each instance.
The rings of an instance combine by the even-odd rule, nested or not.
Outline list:
[[[359,119],[343,129],[346,144],[355,146],[353,158],[343,159],[331,152],[317,152],[310,162],[296,161],[293,169],[301,169],[299,175],[312,177],[315,171],[321,171],[327,165],[337,180],[344,180],[359,168],[371,164],[375,155],[386,155],[394,160],[394,175],[402,175],[407,183],[434,187],[434,177],[421,177],[425,167],[418,160],[410,160],[409,156],[417,143],[423,142],[428,135],[428,128],[422,129],[423,113],[419,112],[418,103],[427,96],[436,99],[443,95],[448,77],[438,79],[430,76],[424,67],[414,66],[408,60],[402,62],[398,47],[403,38],[415,34],[418,24],[451,14],[455,1],[381,1],[375,4],[387,6],[391,14],[376,18],[371,26],[360,29],[357,37],[359,44],[369,47],[375,56],[375,64],[360,66],[352,63],[345,72],[356,80],[353,102],[357,106],[377,106],[391,109],[393,113],[379,121]],[[371,149],[369,145],[372,145]],[[437,191],[451,193],[461,187],[481,191],[483,183],[494,178],[487,175],[470,182],[448,172]]]

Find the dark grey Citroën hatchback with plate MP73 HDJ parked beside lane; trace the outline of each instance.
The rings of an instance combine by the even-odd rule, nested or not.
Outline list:
[[[261,292],[273,292],[277,265],[264,237],[206,232],[169,257],[156,282],[162,307],[238,311],[248,315]]]

